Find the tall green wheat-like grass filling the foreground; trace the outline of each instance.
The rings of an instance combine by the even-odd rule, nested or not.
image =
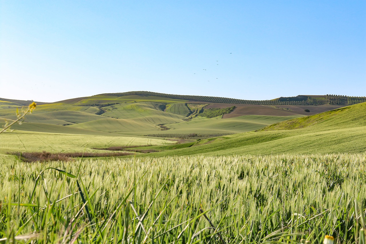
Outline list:
[[[0,243],[364,243],[366,155],[0,166]],[[57,169],[55,169],[57,168]]]

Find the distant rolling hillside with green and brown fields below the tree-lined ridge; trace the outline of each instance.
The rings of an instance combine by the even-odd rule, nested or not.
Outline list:
[[[41,103],[37,105],[33,114],[23,119],[24,123],[21,126],[15,125],[13,128],[46,133],[93,135],[117,133],[135,136],[157,135],[158,137],[199,133],[203,138],[208,135],[261,129],[274,122],[307,114],[303,109],[203,103],[188,100],[189,97],[184,98],[179,95],[163,97],[155,96],[156,94],[134,93],[96,95],[55,103]],[[24,104],[24,101],[19,100],[19,102],[22,103],[10,100],[0,103],[0,125],[5,121],[16,119],[16,108]],[[325,111],[329,110],[329,107],[319,106],[318,109]],[[313,108],[311,110],[313,111]]]

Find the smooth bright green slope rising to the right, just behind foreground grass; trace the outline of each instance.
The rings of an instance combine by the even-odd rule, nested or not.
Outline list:
[[[168,151],[150,156],[365,152],[365,117],[366,103],[356,104],[280,122],[265,127],[260,132],[182,144],[179,145],[181,149],[169,150],[174,146],[156,147]],[[307,126],[296,129],[301,125]]]

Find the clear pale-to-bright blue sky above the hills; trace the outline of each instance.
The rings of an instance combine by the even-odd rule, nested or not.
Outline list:
[[[0,97],[366,96],[366,1],[0,0]]]

